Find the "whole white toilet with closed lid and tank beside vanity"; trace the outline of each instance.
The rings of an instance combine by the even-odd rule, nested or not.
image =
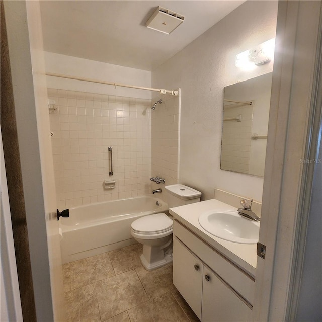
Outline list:
[[[199,202],[201,192],[176,184],[166,186],[169,208]],[[143,244],[142,265],[152,271],[172,262],[172,217],[156,213],[136,219],[131,224],[131,235]]]

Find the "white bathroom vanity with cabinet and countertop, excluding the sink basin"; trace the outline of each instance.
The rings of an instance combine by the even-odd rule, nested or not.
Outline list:
[[[202,322],[250,321],[256,244],[232,243],[199,224],[200,214],[236,208],[216,199],[171,208],[173,283]]]

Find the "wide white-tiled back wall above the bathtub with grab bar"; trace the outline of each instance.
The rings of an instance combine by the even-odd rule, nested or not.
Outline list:
[[[58,207],[150,193],[151,100],[48,89]],[[109,176],[108,147],[113,148]],[[104,180],[116,180],[105,190]]]

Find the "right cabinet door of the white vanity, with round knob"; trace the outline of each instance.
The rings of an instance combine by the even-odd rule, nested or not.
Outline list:
[[[252,309],[222,279],[203,269],[202,322],[249,322]]]

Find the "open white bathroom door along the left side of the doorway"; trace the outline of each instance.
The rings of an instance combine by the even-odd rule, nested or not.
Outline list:
[[[39,1],[5,1],[13,98],[39,321],[64,321],[60,236]],[[32,319],[35,320],[35,319]]]

